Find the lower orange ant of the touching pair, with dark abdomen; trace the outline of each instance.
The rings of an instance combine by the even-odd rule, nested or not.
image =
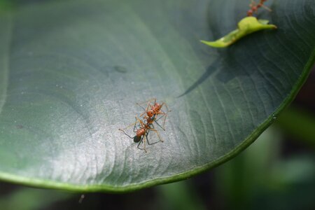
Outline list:
[[[140,125],[138,129],[137,129],[137,122],[139,122],[139,125]],[[125,133],[125,130],[128,127],[132,126],[132,125],[134,125],[134,130],[133,131],[136,133],[136,135],[134,137],[130,137],[130,135]],[[139,148],[141,150],[144,150],[144,151],[146,151],[146,142],[148,142],[149,145],[156,144],[156,143],[159,142],[159,141],[157,141],[155,143],[150,143],[148,141],[148,133],[150,131],[155,132],[158,135],[158,138],[160,139],[160,141],[163,142],[163,140],[160,137],[160,134],[159,134],[158,130],[155,130],[155,128],[154,128],[152,123],[148,123],[148,122],[144,123],[144,121],[140,120],[137,117],[136,117],[136,122],[132,123],[131,125],[128,125],[127,127],[125,127],[125,129],[119,129],[119,130],[122,131],[127,137],[130,137],[130,139],[134,139],[134,143],[138,143],[139,142],[137,148]],[[139,147],[142,142],[144,144],[144,148],[140,148]]]

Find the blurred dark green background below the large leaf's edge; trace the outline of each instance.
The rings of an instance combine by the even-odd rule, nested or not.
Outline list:
[[[315,209],[315,69],[293,104],[236,158],[134,193],[68,193],[0,182],[1,210]]]

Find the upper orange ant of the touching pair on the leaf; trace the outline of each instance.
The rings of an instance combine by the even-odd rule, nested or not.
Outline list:
[[[154,103],[153,105],[151,105],[151,102],[153,102],[153,100],[154,100]],[[146,116],[144,116],[144,119],[146,120],[147,123],[153,124],[153,122],[155,122],[158,126],[162,128],[162,130],[165,130],[165,120],[167,118],[167,113],[170,112],[167,104],[165,102],[162,102],[162,104],[159,104],[156,102],[155,98],[150,99],[147,102],[148,104],[146,106],[146,109],[144,109],[144,107],[140,105],[143,103],[140,103],[140,104],[137,103],[137,105],[139,105],[142,109],[144,109],[144,113],[141,113],[140,116],[144,116],[146,114]],[[165,107],[167,108],[167,113],[161,110],[163,105],[165,105]],[[160,118],[164,117],[162,126],[158,123],[158,120],[160,120],[160,118],[158,118],[158,120],[155,120],[155,117],[158,115],[162,115]]]

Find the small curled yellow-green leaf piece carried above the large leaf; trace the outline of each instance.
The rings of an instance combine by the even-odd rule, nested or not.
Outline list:
[[[251,34],[255,31],[260,31],[262,29],[276,29],[275,25],[268,25],[268,20],[258,20],[254,17],[246,17],[241,19],[238,23],[238,29],[230,32],[230,34],[219,38],[216,41],[203,41],[202,43],[209,45],[214,48],[226,48],[228,45],[235,43],[243,36]]]

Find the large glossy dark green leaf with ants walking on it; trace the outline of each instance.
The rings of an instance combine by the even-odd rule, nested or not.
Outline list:
[[[314,1],[267,6],[261,18],[279,29],[220,51],[199,40],[232,31],[247,0],[36,1],[1,13],[0,178],[125,192],[234,157],[314,64]],[[172,112],[164,143],[144,153],[118,129],[152,97]]]

